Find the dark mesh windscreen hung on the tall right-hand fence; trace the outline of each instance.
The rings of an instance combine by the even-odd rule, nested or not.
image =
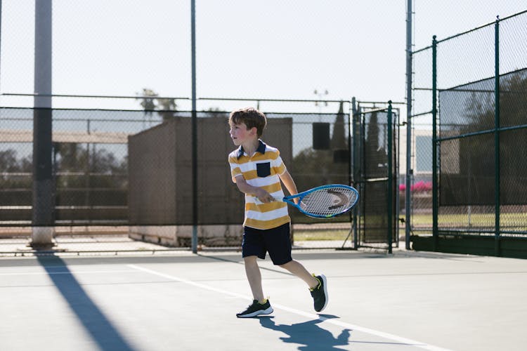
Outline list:
[[[461,121],[458,122],[454,135],[489,131],[495,128],[493,82],[494,79],[491,78],[444,92],[459,94],[462,97],[462,94],[471,91],[462,107],[462,113],[459,114],[460,117],[457,117]],[[455,101],[455,98],[450,97],[448,100]],[[527,69],[500,76],[500,127],[524,126],[526,107]],[[441,175],[450,182],[450,188],[453,189],[448,194],[445,193],[443,199],[453,204],[494,204],[494,137],[494,133],[483,133],[460,138],[457,140],[458,154],[441,155],[441,164],[459,164],[459,173]],[[527,168],[525,140],[527,140],[525,127],[500,132],[502,204],[526,203],[527,178],[523,176]],[[444,188],[446,190],[448,187]]]

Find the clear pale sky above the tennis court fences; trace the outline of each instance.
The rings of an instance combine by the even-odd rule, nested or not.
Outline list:
[[[405,101],[402,0],[196,0],[197,97]],[[415,0],[414,48],[527,9],[525,0]],[[1,93],[33,93],[34,0],[3,0]],[[53,0],[53,93],[191,95],[190,0]],[[31,106],[31,98],[0,98]],[[190,107],[181,101],[180,107]],[[200,101],[198,110],[240,102]],[[249,105],[249,103],[246,103]],[[286,106],[289,105],[289,106]],[[263,110],[335,112],[313,103]],[[54,107],[140,109],[54,99]]]

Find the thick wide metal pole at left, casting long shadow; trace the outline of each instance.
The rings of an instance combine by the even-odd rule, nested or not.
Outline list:
[[[52,1],[35,1],[34,112],[33,112],[33,211],[34,249],[53,246],[53,169],[51,111]],[[44,94],[46,96],[41,96]]]

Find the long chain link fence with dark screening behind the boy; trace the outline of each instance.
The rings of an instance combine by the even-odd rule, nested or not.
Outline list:
[[[280,149],[299,191],[349,183],[349,108],[350,102],[340,102],[334,114],[266,114],[263,141]],[[0,108],[0,237],[22,240],[18,246],[28,244],[33,224],[34,112]],[[93,237],[102,233],[107,238],[126,234],[144,241],[145,248],[153,243],[188,249],[191,112],[53,109],[51,114],[54,206],[49,211],[59,247],[67,247],[65,237],[89,237],[85,244],[93,246]],[[197,114],[202,247],[241,242],[244,199],[230,180],[227,155],[235,146],[227,119],[228,112]],[[337,239],[332,246],[340,246],[348,234],[349,216],[325,220],[320,227],[320,220],[294,209],[290,213],[301,239],[326,245],[327,239]],[[121,239],[117,244],[105,240],[96,240],[98,250],[122,244]]]

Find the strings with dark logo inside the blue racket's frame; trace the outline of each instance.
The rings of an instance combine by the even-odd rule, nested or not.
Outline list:
[[[355,204],[357,194],[344,187],[315,190],[301,199],[301,208],[318,216],[334,216],[349,210]]]

